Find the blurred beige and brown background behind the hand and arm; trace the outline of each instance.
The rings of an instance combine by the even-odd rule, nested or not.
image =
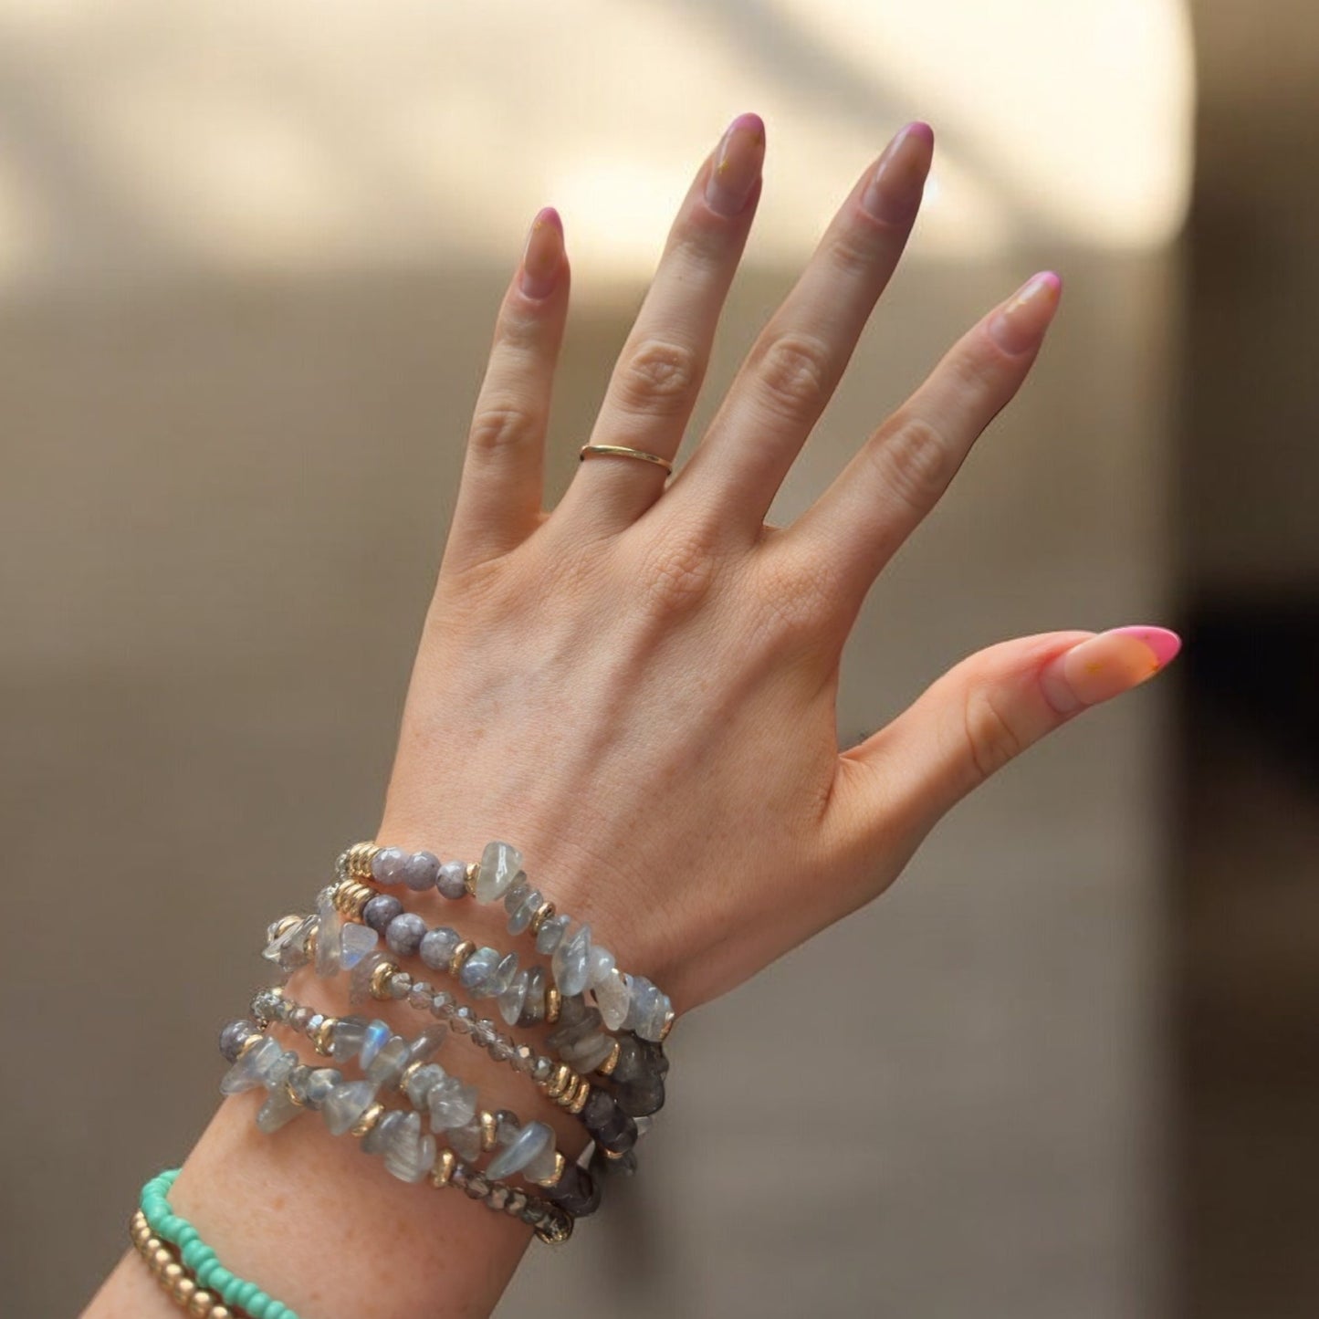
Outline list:
[[[265,923],[379,822],[532,216],[572,261],[554,497],[745,109],[689,445],[889,135],[938,137],[777,520],[1066,284],[872,594],[842,736],[1006,637],[1184,650],[685,1021],[644,1174],[499,1312],[1319,1312],[1316,74],[1303,0],[0,0],[5,1312],[90,1298]]]

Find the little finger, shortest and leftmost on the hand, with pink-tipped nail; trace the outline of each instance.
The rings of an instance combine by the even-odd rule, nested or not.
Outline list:
[[[496,318],[445,551],[447,567],[506,554],[539,522],[545,433],[568,284],[563,222],[546,206],[532,223]]]

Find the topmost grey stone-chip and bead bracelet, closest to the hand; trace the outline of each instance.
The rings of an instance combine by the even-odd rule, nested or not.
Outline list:
[[[532,888],[522,869],[522,853],[509,843],[487,843],[480,861],[446,861],[431,852],[412,855],[397,847],[353,843],[339,859],[342,876],[385,886],[405,884],[417,892],[434,888],[448,898],[471,894],[477,902],[504,900],[509,934],[529,931],[536,951],[553,954],[554,983],[563,996],[590,989],[611,1030],[634,1031],[641,1039],[663,1041],[673,1029],[673,1004],[645,976],[629,976],[615,967],[613,954],[591,942],[591,927],[555,914],[554,904]]]

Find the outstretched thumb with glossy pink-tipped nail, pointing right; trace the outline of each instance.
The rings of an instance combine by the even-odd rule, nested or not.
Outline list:
[[[1181,650],[1167,628],[1046,632],[968,656],[845,758],[882,782],[898,819],[933,827],[995,770],[1075,715],[1154,677]]]

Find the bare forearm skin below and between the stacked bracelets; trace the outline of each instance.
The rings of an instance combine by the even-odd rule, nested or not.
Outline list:
[[[414,905],[425,911],[423,902]],[[464,917],[464,934],[495,940],[497,917],[489,909],[472,905]],[[363,1010],[347,1002],[342,977],[318,980],[310,968],[294,973],[288,993],[336,1016]],[[423,1024],[406,1004],[372,1001],[369,1012],[401,1034],[415,1034]],[[272,1029],[309,1064],[327,1062],[302,1037]],[[455,1070],[480,1091],[484,1108],[547,1121],[565,1157],[580,1153],[587,1140],[582,1125],[526,1078],[460,1039],[447,1047],[455,1051]],[[219,1055],[216,1064],[219,1076],[224,1067]],[[532,1240],[530,1228],[454,1187],[397,1181],[379,1158],[363,1157],[355,1137],[330,1137],[315,1113],[262,1134],[253,1119],[265,1097],[257,1089],[224,1100],[170,1192],[174,1211],[193,1223],[227,1269],[302,1319],[489,1314]],[[144,1169],[142,1179],[154,1171]],[[129,1208],[124,1206],[125,1220]],[[129,1249],[86,1319],[178,1319],[179,1314]]]

